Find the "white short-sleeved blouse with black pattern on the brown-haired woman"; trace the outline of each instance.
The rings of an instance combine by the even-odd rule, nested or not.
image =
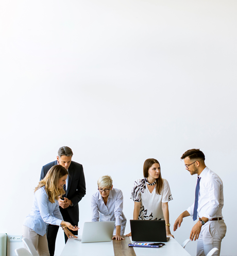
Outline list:
[[[143,220],[159,220],[164,219],[162,211],[162,203],[173,200],[171,195],[170,185],[163,179],[164,187],[161,191],[161,195],[156,194],[156,186],[150,193],[145,179],[137,180],[134,182],[134,186],[131,193],[131,199],[134,202],[141,202],[141,208],[138,219]]]

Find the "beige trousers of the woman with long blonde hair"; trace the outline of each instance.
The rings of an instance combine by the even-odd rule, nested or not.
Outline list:
[[[40,256],[49,256],[48,242],[47,242],[46,234],[44,236],[39,235],[35,231],[33,231],[32,229],[23,225],[22,237],[25,237],[25,238],[29,239],[29,241],[36,248],[36,250],[38,251]],[[24,248],[27,249],[25,244],[24,244]]]

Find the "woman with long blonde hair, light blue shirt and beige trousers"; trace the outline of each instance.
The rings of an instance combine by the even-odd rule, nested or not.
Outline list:
[[[67,228],[78,230],[77,226],[63,221],[59,211],[58,197],[65,194],[68,172],[61,165],[53,166],[35,189],[33,207],[23,224],[23,237],[28,238],[39,255],[49,256],[46,237],[47,223],[61,226],[67,237],[76,237]],[[26,248],[27,249],[27,248]]]

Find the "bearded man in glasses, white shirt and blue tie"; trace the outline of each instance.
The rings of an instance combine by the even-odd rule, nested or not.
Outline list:
[[[187,211],[179,215],[174,223],[174,231],[180,227],[183,218],[192,216],[197,220],[193,226],[190,239],[197,239],[197,256],[205,256],[213,248],[219,255],[221,242],[226,234],[226,224],[222,216],[224,205],[223,182],[219,176],[205,165],[205,155],[199,149],[190,149],[183,153],[186,170],[191,175],[197,174],[195,202]]]

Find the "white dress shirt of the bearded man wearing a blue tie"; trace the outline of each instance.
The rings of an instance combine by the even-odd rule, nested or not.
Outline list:
[[[197,214],[198,217],[208,219],[223,217],[222,208],[224,205],[223,182],[219,176],[206,167],[199,175],[200,189],[198,195]],[[194,203],[188,208],[192,216]]]

